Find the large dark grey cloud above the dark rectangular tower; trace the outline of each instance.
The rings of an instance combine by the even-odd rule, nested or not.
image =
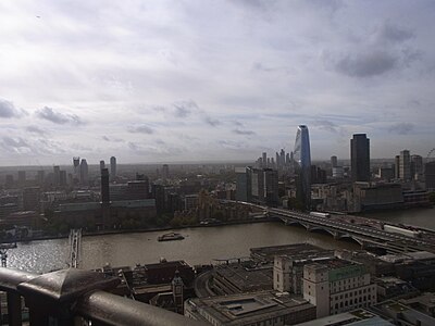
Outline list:
[[[397,58],[384,51],[347,54],[333,63],[335,70],[350,77],[372,77],[391,71]]]

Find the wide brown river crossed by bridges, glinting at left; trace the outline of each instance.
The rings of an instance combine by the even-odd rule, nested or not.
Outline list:
[[[393,223],[414,224],[435,229],[435,210],[409,210],[376,213],[368,217]],[[156,263],[161,258],[185,260],[187,263],[210,264],[214,259],[248,256],[256,247],[309,242],[328,249],[358,249],[352,242],[336,241],[331,236],[309,233],[304,228],[282,223],[254,223],[226,226],[196,227],[176,230],[185,239],[159,242],[158,236],[166,231],[149,231],[83,237],[83,268],[98,268],[104,264],[134,266]],[[45,273],[66,267],[67,239],[52,239],[17,243],[8,252],[8,266]]]

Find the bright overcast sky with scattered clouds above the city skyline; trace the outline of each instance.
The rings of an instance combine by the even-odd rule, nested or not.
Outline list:
[[[2,0],[0,165],[435,147],[435,1]]]

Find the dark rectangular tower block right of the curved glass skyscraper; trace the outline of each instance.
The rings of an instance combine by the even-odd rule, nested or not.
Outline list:
[[[353,181],[370,181],[370,139],[365,134],[350,139],[350,168]]]

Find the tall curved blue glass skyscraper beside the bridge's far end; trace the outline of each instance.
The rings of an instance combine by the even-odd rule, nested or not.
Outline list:
[[[310,152],[310,136],[308,127],[300,125],[296,133],[295,150],[293,159],[296,161],[298,174],[297,198],[302,203],[303,208],[311,206],[311,152]]]

